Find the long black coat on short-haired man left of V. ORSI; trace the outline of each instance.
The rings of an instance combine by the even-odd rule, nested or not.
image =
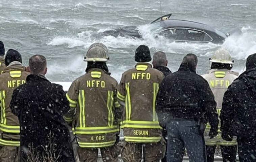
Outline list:
[[[10,108],[20,122],[21,162],[27,162],[30,152],[40,162],[51,153],[56,162],[74,162],[70,133],[62,118],[69,110],[62,86],[30,74],[27,83],[14,90]]]

